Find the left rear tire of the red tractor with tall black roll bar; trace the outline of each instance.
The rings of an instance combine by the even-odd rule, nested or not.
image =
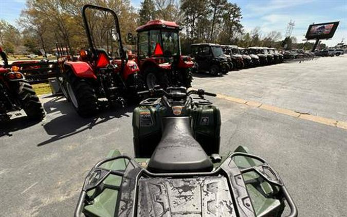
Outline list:
[[[85,79],[77,78],[68,73],[66,89],[72,106],[83,118],[93,117],[99,110],[98,98],[95,89]]]

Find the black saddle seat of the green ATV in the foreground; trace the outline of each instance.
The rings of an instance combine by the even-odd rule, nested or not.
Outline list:
[[[213,169],[204,149],[192,136],[189,117],[164,118],[163,129],[161,140],[149,161],[149,171],[209,172]]]

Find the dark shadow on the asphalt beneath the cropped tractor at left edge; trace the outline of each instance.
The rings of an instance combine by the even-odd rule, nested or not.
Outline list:
[[[12,136],[11,133],[23,130],[40,123],[41,121],[33,121],[28,119],[27,116],[13,118],[11,120],[0,121],[0,137]]]

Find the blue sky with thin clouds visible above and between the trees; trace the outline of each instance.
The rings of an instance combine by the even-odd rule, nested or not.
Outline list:
[[[16,19],[25,7],[25,0],[0,0],[0,19],[16,25]],[[140,0],[132,1],[139,8]],[[276,30],[285,34],[290,20],[295,21],[292,35],[298,41],[304,39],[309,24],[340,21],[334,38],[323,40],[333,46],[343,38],[347,43],[347,0],[236,0],[242,10],[242,24],[246,31],[261,27],[264,34]]]

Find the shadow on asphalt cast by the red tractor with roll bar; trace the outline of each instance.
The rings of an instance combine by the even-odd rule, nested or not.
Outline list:
[[[44,103],[44,108],[47,114],[52,113],[51,120],[43,124],[43,128],[48,135],[53,135],[50,139],[45,140],[37,144],[37,146],[44,146],[53,141],[57,141],[86,130],[92,129],[94,126],[104,123],[113,118],[120,118],[123,116],[129,117],[126,113],[134,111],[135,106],[127,107],[114,107],[109,108],[103,106],[98,115],[92,118],[80,117],[74,108],[62,97],[53,98],[50,101]],[[53,114],[59,112],[61,114]],[[57,117],[54,117],[57,116]]]

